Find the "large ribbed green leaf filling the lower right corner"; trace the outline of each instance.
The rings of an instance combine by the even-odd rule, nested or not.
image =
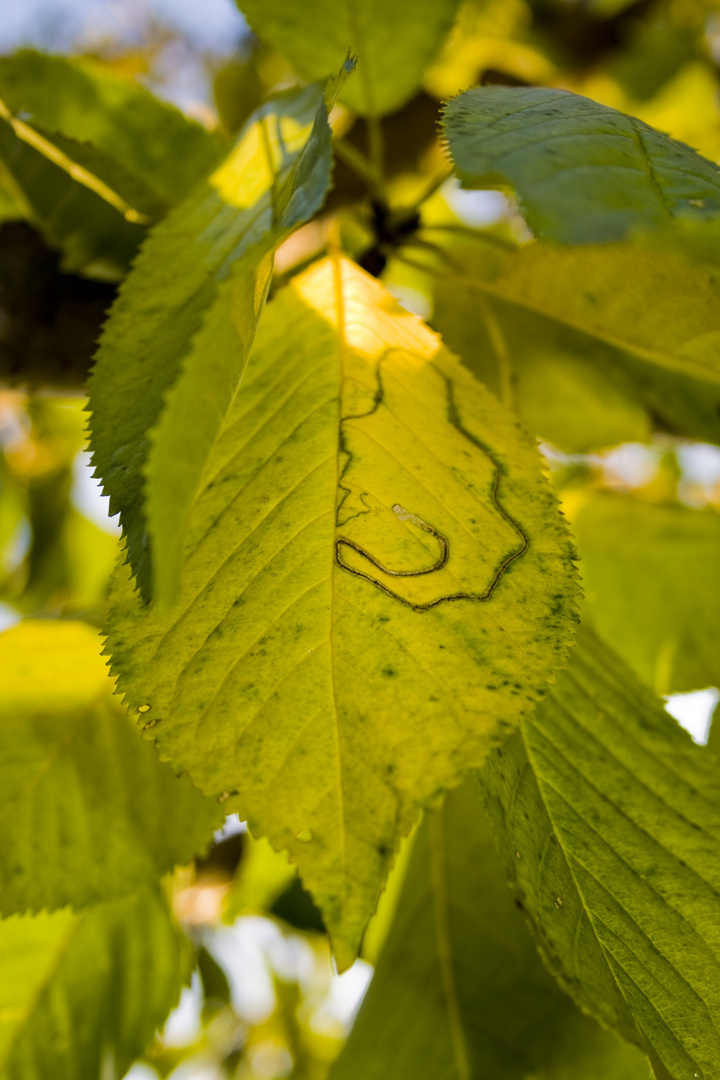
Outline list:
[[[587,630],[484,769],[543,955],[674,1080],[720,1076],[718,761]]]

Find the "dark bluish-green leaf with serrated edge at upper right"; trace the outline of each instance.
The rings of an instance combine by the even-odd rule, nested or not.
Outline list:
[[[464,185],[513,187],[538,237],[592,244],[720,215],[712,162],[567,90],[468,90],[449,102],[444,126]]]

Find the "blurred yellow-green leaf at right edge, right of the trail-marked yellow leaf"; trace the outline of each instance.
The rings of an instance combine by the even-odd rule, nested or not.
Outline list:
[[[573,516],[596,630],[657,693],[720,685],[720,514],[596,495]]]

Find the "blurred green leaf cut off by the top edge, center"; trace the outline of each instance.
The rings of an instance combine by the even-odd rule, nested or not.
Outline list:
[[[342,100],[353,112],[379,117],[419,89],[459,0],[237,0],[237,6],[303,79],[327,79],[349,51],[357,56],[357,75]]]

